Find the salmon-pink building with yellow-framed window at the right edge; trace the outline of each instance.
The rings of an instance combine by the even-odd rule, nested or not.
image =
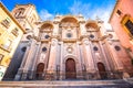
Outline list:
[[[133,63],[133,0],[117,0],[109,22]]]

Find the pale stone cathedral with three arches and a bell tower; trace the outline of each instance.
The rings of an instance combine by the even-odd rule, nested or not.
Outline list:
[[[22,36],[4,79],[65,80],[132,77],[131,57],[113,29],[82,14],[41,21],[33,4],[17,4],[12,15]]]

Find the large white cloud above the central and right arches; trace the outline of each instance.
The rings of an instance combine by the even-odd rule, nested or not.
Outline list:
[[[80,1],[74,1],[74,3],[69,8],[70,12],[72,14],[83,14],[83,16],[88,20],[90,19],[96,19],[99,16],[104,22],[108,22],[113,4],[110,4],[108,7],[93,7],[90,3],[82,3]]]

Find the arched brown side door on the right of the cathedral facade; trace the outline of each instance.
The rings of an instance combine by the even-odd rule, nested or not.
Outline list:
[[[106,75],[105,66],[102,63],[98,63],[98,69],[99,69],[101,79],[106,79],[108,75]]]

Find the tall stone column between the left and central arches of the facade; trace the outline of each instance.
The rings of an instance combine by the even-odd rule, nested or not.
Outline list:
[[[53,22],[54,29],[51,38],[51,48],[49,64],[47,69],[47,78],[57,79],[57,61],[58,61],[58,38],[59,38],[59,21]]]

